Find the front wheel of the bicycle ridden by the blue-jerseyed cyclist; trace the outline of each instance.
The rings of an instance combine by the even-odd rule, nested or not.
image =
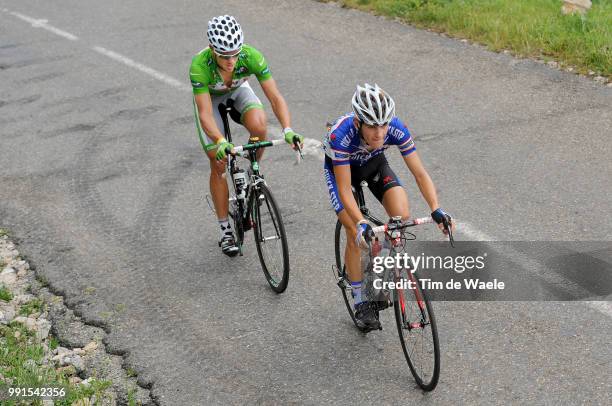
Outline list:
[[[404,356],[417,385],[433,390],[440,378],[438,329],[427,291],[421,289],[416,273],[400,269],[396,282],[413,281],[414,289],[394,289],[393,308]]]

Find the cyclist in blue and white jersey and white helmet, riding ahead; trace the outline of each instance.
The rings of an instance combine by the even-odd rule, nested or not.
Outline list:
[[[408,219],[408,197],[385,157],[385,150],[394,145],[441,230],[444,230],[444,218],[451,222],[451,217],[438,204],[436,188],[423,167],[408,128],[394,115],[393,99],[378,85],[366,83],[357,86],[352,107],[353,112],[338,118],[323,140],[324,173],[331,204],[347,234],[344,263],[355,299],[355,317],[360,327],[374,330],[380,323],[374,309],[361,297],[363,275],[359,255],[359,248],[367,249],[364,236],[372,231],[372,226],[359,210],[351,186],[359,186],[365,180],[389,217]]]

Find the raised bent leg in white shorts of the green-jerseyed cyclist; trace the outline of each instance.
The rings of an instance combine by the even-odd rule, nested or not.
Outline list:
[[[234,107],[240,113],[240,121],[246,127],[251,137],[257,137],[260,141],[266,139],[266,113],[263,109],[261,100],[257,97],[248,82],[244,82],[242,86],[232,93]],[[263,148],[257,151],[257,159],[260,159],[264,150]]]

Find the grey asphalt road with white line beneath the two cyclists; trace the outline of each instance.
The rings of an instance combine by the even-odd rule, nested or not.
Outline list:
[[[343,308],[316,149],[262,164],[290,236],[287,292],[267,288],[252,241],[220,255],[187,77],[225,13],[307,137],[356,83],[389,89],[460,238],[612,236],[612,89],[587,79],[319,2],[0,0],[0,220],[159,404],[609,402],[609,302],[438,302],[441,381],[417,390],[392,315],[363,336]],[[544,262],[519,261],[534,283]]]

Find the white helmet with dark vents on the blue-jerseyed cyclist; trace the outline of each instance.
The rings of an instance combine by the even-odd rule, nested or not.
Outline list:
[[[395,114],[393,99],[377,84],[357,85],[352,104],[355,116],[368,125],[389,124]]]

